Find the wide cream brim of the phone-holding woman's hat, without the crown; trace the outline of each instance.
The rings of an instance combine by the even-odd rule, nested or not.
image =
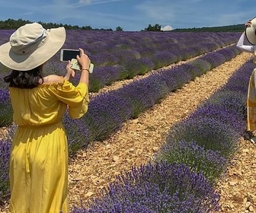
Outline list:
[[[0,62],[8,68],[27,71],[37,68],[52,58],[63,46],[66,40],[64,27],[47,30],[48,36],[43,45],[28,55],[19,55],[11,49],[11,44],[5,43],[0,46]]]

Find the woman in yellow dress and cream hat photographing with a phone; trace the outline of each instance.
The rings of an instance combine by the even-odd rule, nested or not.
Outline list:
[[[64,27],[45,30],[38,23],[18,28],[0,46],[0,62],[12,69],[9,83],[13,119],[18,124],[11,145],[9,211],[14,213],[68,212],[68,147],[62,116],[73,119],[88,110],[88,68],[83,49],[77,56],[81,76],[66,65],[66,76],[42,77],[43,65],[66,40]]]

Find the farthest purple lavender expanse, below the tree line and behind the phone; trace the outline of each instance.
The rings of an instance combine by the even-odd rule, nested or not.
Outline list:
[[[0,30],[0,44],[7,42],[13,30]],[[238,33],[149,33],[68,30],[64,47],[86,49],[94,63],[89,90],[98,92],[114,81],[145,75],[152,69],[187,60],[205,52],[235,43]],[[63,75],[66,63],[59,54],[45,66],[45,75]],[[0,65],[0,87],[7,87],[2,77],[9,70]],[[75,83],[78,79],[75,78]]]

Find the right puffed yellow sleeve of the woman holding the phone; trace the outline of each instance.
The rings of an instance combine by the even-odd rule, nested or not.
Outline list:
[[[69,116],[72,119],[81,118],[88,110],[89,96],[88,85],[79,83],[76,87],[63,79],[63,84],[58,84],[52,91],[56,98],[68,105]]]

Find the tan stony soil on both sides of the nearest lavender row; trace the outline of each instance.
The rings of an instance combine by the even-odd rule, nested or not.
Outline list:
[[[80,206],[97,196],[120,172],[145,164],[165,143],[168,129],[181,121],[198,104],[225,84],[251,54],[242,52],[229,62],[196,78],[165,97],[137,119],[123,124],[122,129],[104,141],[94,141],[86,150],[78,151],[69,162],[69,207]],[[120,82],[119,84],[122,84]],[[118,87],[118,86],[117,86]],[[256,212],[256,146],[241,141],[229,164],[226,175],[216,190],[221,192],[220,212]],[[7,212],[5,205],[0,212]]]

